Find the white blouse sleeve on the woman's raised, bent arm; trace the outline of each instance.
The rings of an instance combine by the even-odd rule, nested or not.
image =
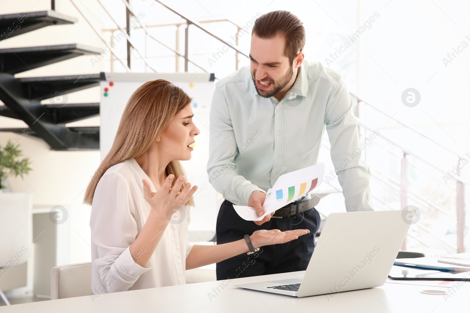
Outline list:
[[[131,256],[138,229],[129,185],[117,171],[106,172],[96,186],[90,228],[92,275],[99,274],[101,281],[92,286],[95,294],[128,290],[152,267],[151,261],[141,266]]]

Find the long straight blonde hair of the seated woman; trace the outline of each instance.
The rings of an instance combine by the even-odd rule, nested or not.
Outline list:
[[[96,185],[108,168],[124,160],[135,159],[149,150],[172,118],[189,105],[191,100],[180,87],[164,79],[157,79],[137,88],[125,106],[110,152],[102,160],[86,188],[83,203],[92,204]],[[172,184],[184,173],[178,160],[171,161],[165,171],[166,175],[174,175]],[[185,180],[181,189],[186,183]],[[187,205],[193,206],[194,200],[189,199]]]

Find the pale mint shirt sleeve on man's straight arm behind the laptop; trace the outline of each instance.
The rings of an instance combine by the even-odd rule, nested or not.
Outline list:
[[[346,211],[373,211],[370,205],[370,172],[361,159],[357,119],[352,112],[351,96],[341,78],[332,85],[325,124],[331,160],[343,188]]]

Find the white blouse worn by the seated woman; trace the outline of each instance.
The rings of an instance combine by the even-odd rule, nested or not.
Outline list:
[[[137,161],[130,159],[108,168],[96,186],[90,218],[94,294],[186,282],[186,258],[192,248],[188,206],[179,213],[180,219],[170,221],[145,267],[132,259],[129,246],[150,213],[142,179],[156,191]]]

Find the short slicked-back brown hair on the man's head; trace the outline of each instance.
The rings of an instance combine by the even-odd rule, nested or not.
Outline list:
[[[273,11],[259,16],[251,34],[263,39],[282,35],[285,38],[284,55],[290,64],[305,46],[304,23],[289,11]]]

